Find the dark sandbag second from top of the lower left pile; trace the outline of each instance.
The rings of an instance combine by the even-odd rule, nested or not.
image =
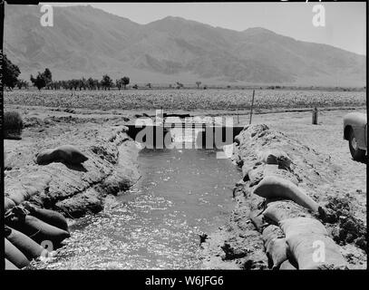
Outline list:
[[[58,227],[46,224],[44,221],[26,215],[25,217],[15,217],[11,220],[5,220],[6,225],[13,227],[34,241],[41,244],[45,240],[50,240],[58,245],[63,239],[71,237],[70,234]]]

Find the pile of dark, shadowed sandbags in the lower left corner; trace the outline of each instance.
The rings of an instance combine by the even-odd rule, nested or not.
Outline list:
[[[6,203],[6,198],[5,198]],[[21,269],[70,237],[62,214],[28,202],[5,211],[5,269]],[[44,247],[43,247],[44,246]]]

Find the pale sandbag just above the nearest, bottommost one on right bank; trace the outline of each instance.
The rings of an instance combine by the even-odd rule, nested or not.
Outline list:
[[[328,236],[325,226],[316,218],[287,218],[282,220],[279,226],[286,238],[305,234]]]

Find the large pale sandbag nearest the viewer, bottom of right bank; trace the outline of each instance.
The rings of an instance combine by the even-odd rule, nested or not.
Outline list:
[[[315,233],[298,234],[287,237],[286,243],[299,270],[347,268],[340,248],[330,237]],[[320,257],[323,257],[324,261],[315,260]]]

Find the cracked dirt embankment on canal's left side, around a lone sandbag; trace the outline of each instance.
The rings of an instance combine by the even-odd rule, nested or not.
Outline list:
[[[103,208],[107,195],[127,190],[139,179],[138,150],[124,119],[47,116],[24,111],[22,140],[5,140],[5,197],[24,197],[43,208],[80,218]],[[70,144],[88,157],[82,165],[37,165],[35,155]]]

